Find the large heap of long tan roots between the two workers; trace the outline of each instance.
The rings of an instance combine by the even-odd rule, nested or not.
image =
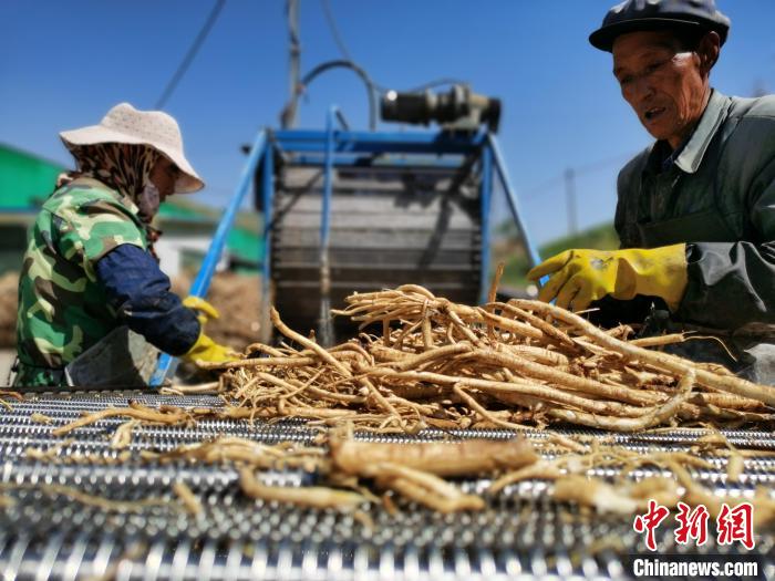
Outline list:
[[[659,351],[683,335],[628,341],[627,326],[603,331],[551,304],[468,307],[412,284],[347,302],[337,314],[382,332],[323,349],[272,311],[290,342],[254,343],[248,359],[203,363],[224,372],[219,388],[235,417],[347,419],[356,429],[410,433],[555,422],[636,432],[775,417],[772,387]]]

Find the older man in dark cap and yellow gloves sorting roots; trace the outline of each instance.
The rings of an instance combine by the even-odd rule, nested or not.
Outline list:
[[[589,40],[657,139],[619,174],[617,251],[534,268],[539,298],[598,322],[713,340],[674,350],[775,384],[775,97],[730,97],[710,74],[730,20],[713,0],[629,0]]]

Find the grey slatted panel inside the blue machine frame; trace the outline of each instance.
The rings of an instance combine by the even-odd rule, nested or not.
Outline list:
[[[320,315],[322,173],[288,165],[277,178],[271,270],[275,307],[307,331]],[[422,284],[450,300],[478,298],[482,252],[477,176],[471,167],[402,165],[333,170],[331,304],[353,291]],[[352,333],[352,325],[335,319]],[[345,336],[345,335],[343,335]]]

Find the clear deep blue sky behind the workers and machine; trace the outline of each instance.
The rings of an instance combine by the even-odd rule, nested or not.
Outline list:
[[[562,173],[577,168],[580,227],[611,219],[616,175],[650,142],[619,95],[608,53],[588,34],[612,0],[330,0],[353,60],[380,84],[409,89],[453,76],[503,100],[499,137],[524,219],[537,242],[566,232]],[[732,19],[714,86],[775,92],[775,1],[719,0]],[[0,2],[0,142],[69,163],[56,133],[91,125],[114,104],[152,108],[214,0]],[[302,73],[340,58],[320,0],[300,0]],[[227,0],[165,110],[208,183],[199,201],[225,205],[240,144],[277,126],[288,96],[282,0]],[[330,103],[366,126],[360,81],[319,77],[300,125],[322,127]],[[381,127],[390,128],[389,124]],[[495,219],[503,214],[496,204]]]

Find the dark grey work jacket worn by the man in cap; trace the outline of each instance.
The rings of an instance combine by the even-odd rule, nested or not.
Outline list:
[[[686,242],[689,283],[671,320],[716,330],[743,351],[771,343],[766,356],[775,363],[775,96],[713,91],[694,133],[663,167],[665,145],[654,143],[619,174],[621,247]],[[740,354],[743,370],[752,361]],[[775,365],[769,377],[743,375],[775,383]]]

